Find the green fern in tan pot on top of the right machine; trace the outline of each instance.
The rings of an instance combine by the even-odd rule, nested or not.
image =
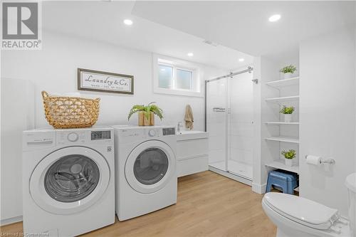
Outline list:
[[[155,102],[150,102],[148,105],[134,105],[132,106],[127,120],[130,120],[130,117],[138,112],[138,125],[139,126],[153,126],[155,125],[155,115],[162,120],[162,110],[155,105]]]

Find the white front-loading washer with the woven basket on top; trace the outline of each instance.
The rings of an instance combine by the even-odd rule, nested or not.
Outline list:
[[[23,132],[23,232],[77,236],[115,222],[110,127]]]

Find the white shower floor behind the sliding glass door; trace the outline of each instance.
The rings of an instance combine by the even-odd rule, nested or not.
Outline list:
[[[214,162],[209,164],[211,167],[216,169],[221,169],[226,171],[225,169],[225,162]],[[238,174],[242,177],[246,177],[247,179],[252,179],[252,165],[246,164],[244,162],[236,162],[232,159],[228,161],[228,170],[231,173]]]

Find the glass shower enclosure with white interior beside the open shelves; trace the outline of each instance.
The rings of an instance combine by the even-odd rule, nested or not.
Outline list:
[[[253,68],[206,80],[205,130],[209,169],[253,178]]]

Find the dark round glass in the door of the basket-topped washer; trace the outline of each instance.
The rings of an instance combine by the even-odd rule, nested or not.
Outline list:
[[[99,178],[99,168],[93,159],[81,154],[70,154],[49,167],[44,186],[47,194],[57,201],[79,201],[91,194]]]

